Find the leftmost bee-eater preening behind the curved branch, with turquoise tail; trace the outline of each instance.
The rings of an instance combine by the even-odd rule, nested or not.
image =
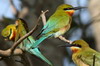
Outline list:
[[[16,31],[16,33],[15,33],[15,36],[12,36],[14,30]],[[27,28],[26,22],[23,19],[17,19],[16,20],[16,24],[8,25],[2,31],[2,35],[4,37],[12,36],[13,40],[17,41],[19,38],[24,36],[27,33],[27,31],[28,31],[28,28]],[[6,35],[5,32],[7,33],[7,35]],[[12,40],[12,39],[9,38],[9,40]],[[40,59],[42,59],[43,61],[47,62],[49,65],[52,66],[52,63],[45,56],[42,55],[42,53],[40,52],[39,48],[34,48],[34,49],[31,48],[30,49],[30,47],[34,43],[35,43],[35,40],[33,39],[33,37],[29,36],[26,39],[24,39],[18,47],[21,48],[24,51],[27,51],[27,52],[29,52],[31,54],[34,54],[35,56],[39,57]]]

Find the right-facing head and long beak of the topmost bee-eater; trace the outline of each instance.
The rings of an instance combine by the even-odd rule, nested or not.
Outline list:
[[[58,8],[57,8],[57,10],[63,10],[63,11],[65,11],[65,13],[69,14],[70,16],[72,16],[73,13],[79,9],[82,9],[82,7],[73,7],[68,4],[62,4],[62,5],[58,6]]]

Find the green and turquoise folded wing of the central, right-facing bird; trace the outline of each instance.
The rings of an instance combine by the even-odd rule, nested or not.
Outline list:
[[[67,26],[70,22],[70,17],[68,16],[57,16],[51,17],[47,24],[43,27],[42,34],[46,34],[48,32],[57,32],[60,28]]]

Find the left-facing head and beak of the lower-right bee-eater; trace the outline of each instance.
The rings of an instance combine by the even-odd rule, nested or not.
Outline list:
[[[84,40],[76,40],[73,41],[71,44],[62,45],[62,47],[70,47],[73,53],[76,53],[81,50],[85,50],[89,47],[88,43]]]

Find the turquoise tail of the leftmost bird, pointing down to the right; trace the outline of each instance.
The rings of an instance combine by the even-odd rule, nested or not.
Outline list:
[[[34,54],[35,56],[39,57],[43,61],[47,62],[50,66],[53,66],[52,63],[45,56],[42,55],[42,53],[39,51],[38,48],[30,49],[28,52]]]

